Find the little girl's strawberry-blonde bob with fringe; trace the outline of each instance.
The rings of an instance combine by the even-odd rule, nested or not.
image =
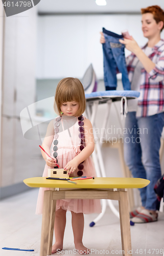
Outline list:
[[[63,78],[56,88],[54,110],[61,115],[60,106],[63,102],[76,101],[79,103],[77,116],[81,116],[85,111],[85,93],[82,83],[78,78]]]

